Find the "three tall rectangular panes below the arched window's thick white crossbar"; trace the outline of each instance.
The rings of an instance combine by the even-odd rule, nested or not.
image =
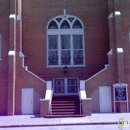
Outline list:
[[[48,35],[48,65],[84,65],[82,34]]]

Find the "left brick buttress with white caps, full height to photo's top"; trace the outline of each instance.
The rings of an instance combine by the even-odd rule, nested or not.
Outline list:
[[[8,53],[8,115],[15,114],[16,83],[16,0],[10,0]]]

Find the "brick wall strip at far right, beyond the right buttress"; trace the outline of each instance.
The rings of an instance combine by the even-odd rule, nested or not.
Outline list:
[[[130,1],[120,1],[121,18],[122,18],[122,44],[124,49],[124,70],[125,83],[127,83],[130,100]],[[130,103],[129,103],[130,106]],[[130,108],[130,107],[129,107]]]

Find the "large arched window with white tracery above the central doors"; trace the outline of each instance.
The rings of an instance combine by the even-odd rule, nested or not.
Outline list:
[[[84,66],[84,26],[72,15],[51,19],[47,25],[47,66]]]

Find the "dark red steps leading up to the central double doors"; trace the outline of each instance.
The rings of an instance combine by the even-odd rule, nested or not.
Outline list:
[[[79,117],[80,101],[78,96],[53,96],[52,114],[46,117]]]

